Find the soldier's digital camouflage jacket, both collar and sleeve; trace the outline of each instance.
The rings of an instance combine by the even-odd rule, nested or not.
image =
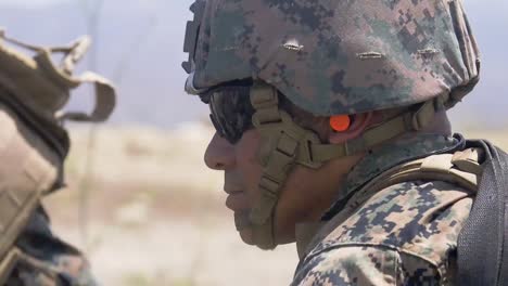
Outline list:
[[[458,144],[418,135],[367,155],[344,185],[355,195],[330,209],[329,221],[302,253],[292,285],[453,285],[471,194],[442,181],[405,182],[360,197],[358,190],[395,165]]]

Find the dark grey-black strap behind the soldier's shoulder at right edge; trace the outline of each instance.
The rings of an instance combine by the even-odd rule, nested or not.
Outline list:
[[[508,285],[508,155],[487,141],[470,217],[458,238],[457,285]]]

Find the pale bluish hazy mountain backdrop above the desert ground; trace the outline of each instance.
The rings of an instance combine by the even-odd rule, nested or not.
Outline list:
[[[206,116],[206,106],[182,91],[186,75],[180,63],[191,0],[104,1],[100,14],[98,69],[119,84],[114,122],[172,127]],[[466,1],[469,18],[482,48],[482,81],[459,104],[453,118],[459,126],[508,126],[508,5],[504,0]],[[18,38],[38,43],[66,43],[86,34],[79,1],[38,9],[5,5],[0,0],[0,26]],[[496,31],[499,31],[497,34]],[[88,57],[90,58],[90,57]],[[120,64],[123,63],[123,64]],[[82,69],[82,67],[81,67]],[[79,93],[74,107],[89,106]]]

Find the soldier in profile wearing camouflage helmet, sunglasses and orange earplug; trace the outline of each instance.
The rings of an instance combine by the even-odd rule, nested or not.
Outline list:
[[[480,68],[460,0],[198,0],[191,11],[186,90],[217,131],[206,165],[225,172],[245,243],[296,242],[293,285],[493,285],[472,276],[506,273],[475,269],[496,261],[487,250],[457,257],[485,245],[471,233],[495,242],[505,218],[471,220],[495,227],[459,236],[485,188],[481,162],[504,156],[452,135],[446,110]],[[501,191],[490,190],[478,194]]]

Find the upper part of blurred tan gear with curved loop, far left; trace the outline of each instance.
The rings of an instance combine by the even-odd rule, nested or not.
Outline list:
[[[29,57],[9,47],[8,42],[36,54]],[[86,53],[89,44],[90,39],[84,37],[69,47],[40,48],[10,39],[0,29],[0,84],[40,116],[55,120],[103,121],[115,106],[113,86],[91,72],[86,72],[77,78],[72,76],[75,64]],[[54,53],[64,54],[61,66],[55,66],[53,63],[51,56]],[[68,101],[69,91],[85,82],[93,83],[96,87],[97,101],[93,112],[62,113],[61,109]]]

